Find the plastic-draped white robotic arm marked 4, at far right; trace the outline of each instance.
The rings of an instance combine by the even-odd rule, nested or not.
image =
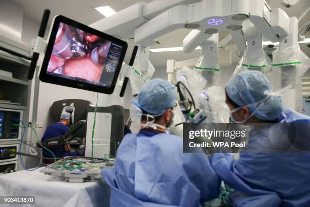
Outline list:
[[[273,52],[272,78],[274,90],[286,89],[283,105],[302,112],[301,77],[310,67],[310,59],[300,51],[298,45],[298,20],[290,17],[290,32],[280,38],[279,49]]]

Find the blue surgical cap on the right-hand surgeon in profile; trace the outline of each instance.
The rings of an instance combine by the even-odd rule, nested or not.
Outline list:
[[[272,92],[267,78],[258,71],[244,71],[232,77],[226,85],[227,96],[239,106],[256,103],[267,95],[265,91]],[[249,106],[252,113],[259,103]],[[254,116],[262,120],[275,120],[282,113],[281,96],[272,95],[261,103]]]

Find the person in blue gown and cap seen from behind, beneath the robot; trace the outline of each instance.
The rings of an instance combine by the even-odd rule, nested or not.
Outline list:
[[[102,170],[110,206],[197,207],[218,196],[220,181],[207,156],[183,154],[182,138],[167,133],[176,101],[175,86],[163,79],[147,82],[132,101],[131,118],[140,118],[141,130],[124,137],[114,169]]]

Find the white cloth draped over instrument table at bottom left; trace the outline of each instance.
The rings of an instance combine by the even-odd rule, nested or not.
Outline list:
[[[40,172],[21,170],[0,175],[0,196],[35,196],[35,204],[1,206],[109,206],[105,182],[68,183]]]

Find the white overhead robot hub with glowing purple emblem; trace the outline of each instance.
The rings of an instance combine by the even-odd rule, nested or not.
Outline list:
[[[175,6],[145,22],[135,30],[135,44],[147,47],[168,32],[189,28],[193,30],[183,40],[184,52],[191,52],[222,30],[230,31],[237,46],[244,45],[240,36],[247,19],[272,42],[289,33],[288,15],[281,9],[270,9],[264,0],[203,0]]]

